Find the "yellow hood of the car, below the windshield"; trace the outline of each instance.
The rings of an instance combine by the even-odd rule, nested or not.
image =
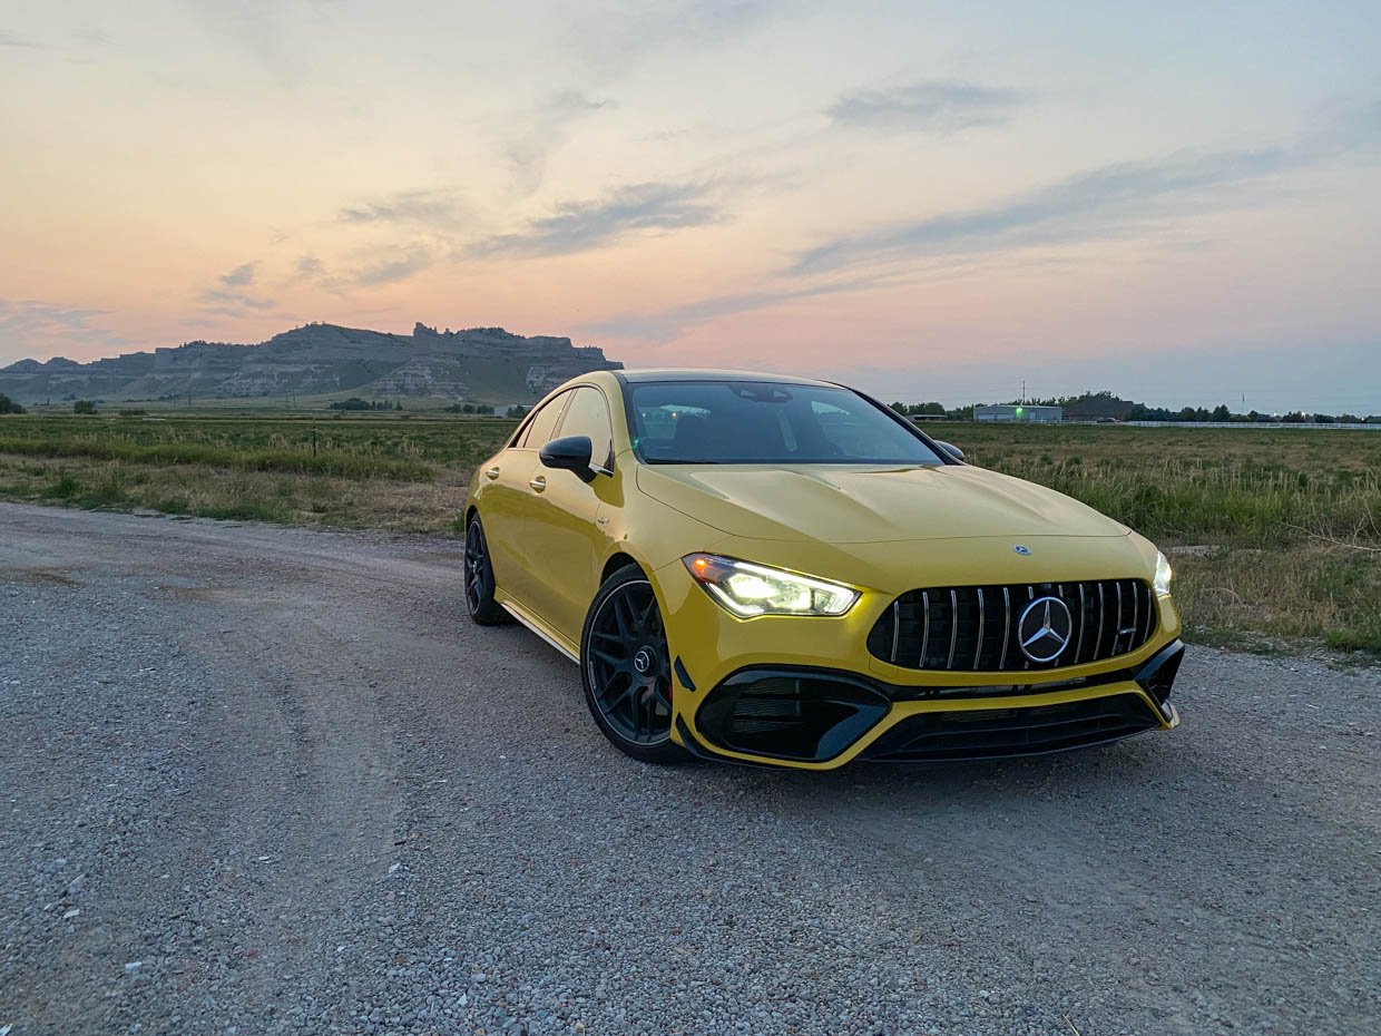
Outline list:
[[[639,466],[638,489],[731,536],[894,543],[975,536],[1126,536],[1052,489],[985,468]]]

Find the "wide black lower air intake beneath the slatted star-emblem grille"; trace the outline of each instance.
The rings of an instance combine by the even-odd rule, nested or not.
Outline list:
[[[1039,756],[1103,745],[1160,725],[1139,695],[1084,702],[921,713],[902,720],[863,750],[898,762]]]

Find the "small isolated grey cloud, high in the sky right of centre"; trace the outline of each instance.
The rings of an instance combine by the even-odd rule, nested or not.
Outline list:
[[[952,134],[1004,123],[1023,99],[1015,90],[927,80],[896,90],[845,94],[826,113],[837,126]]]

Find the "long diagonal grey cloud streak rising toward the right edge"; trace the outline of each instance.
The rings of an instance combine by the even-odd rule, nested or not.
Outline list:
[[[1126,236],[1175,215],[1242,204],[1239,188],[1306,160],[1266,148],[1103,166],[992,206],[836,238],[801,253],[789,272]]]

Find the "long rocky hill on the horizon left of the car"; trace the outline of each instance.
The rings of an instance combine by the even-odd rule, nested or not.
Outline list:
[[[44,399],[250,399],[275,395],[439,396],[501,403],[536,399],[566,378],[623,363],[570,338],[503,327],[412,334],[309,323],[257,345],[189,341],[76,363],[21,359],[0,369],[0,394]]]

